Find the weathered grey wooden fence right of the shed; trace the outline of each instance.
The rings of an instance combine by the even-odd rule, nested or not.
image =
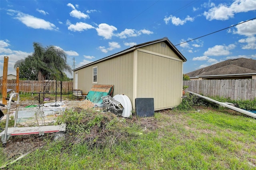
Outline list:
[[[188,80],[183,86],[204,96],[219,96],[232,100],[256,99],[256,79]]]

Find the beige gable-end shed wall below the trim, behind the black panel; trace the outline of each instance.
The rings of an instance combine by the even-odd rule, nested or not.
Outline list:
[[[155,110],[179,105],[182,100],[182,61],[138,51],[136,88],[137,98],[154,98]]]

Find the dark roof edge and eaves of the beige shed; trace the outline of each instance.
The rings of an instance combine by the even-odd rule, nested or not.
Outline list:
[[[154,43],[159,43],[159,42],[165,42],[183,61],[187,61],[187,59],[182,55],[182,53],[180,53],[180,51],[170,42],[170,40],[167,38],[167,37],[164,37],[164,38],[161,38],[161,39],[158,39],[158,40],[154,40],[154,41],[150,41],[150,42],[146,42],[146,43],[141,43],[141,44],[138,44],[138,45],[134,45],[133,47],[130,47],[128,49],[125,49],[123,51],[120,51],[118,53],[115,53],[113,55],[110,55],[108,57],[105,57],[105,58],[102,58],[102,59],[99,59],[97,61],[94,61],[92,63],[89,63],[89,64],[86,64],[86,65],[83,65],[81,67],[78,67],[76,69],[73,69],[73,71],[76,71],[78,69],[81,69],[83,67],[87,67],[89,65],[92,65],[92,64],[95,64],[95,63],[98,63],[100,61],[104,61],[104,60],[107,60],[107,59],[110,59],[110,58],[113,58],[113,57],[117,57],[118,55],[122,55],[124,53],[128,53],[130,51],[133,51],[137,48],[140,48],[140,47],[144,47],[146,45],[150,45],[150,44],[154,44]]]

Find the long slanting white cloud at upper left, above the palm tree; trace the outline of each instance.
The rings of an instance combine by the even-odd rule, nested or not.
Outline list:
[[[12,12],[13,14],[16,13],[16,17],[14,19],[19,20],[23,24],[25,24],[27,27],[34,28],[34,29],[44,29],[44,30],[58,30],[56,26],[48,21],[45,21],[40,18],[36,18],[34,16],[24,14],[19,11],[15,10],[8,10],[9,12]]]

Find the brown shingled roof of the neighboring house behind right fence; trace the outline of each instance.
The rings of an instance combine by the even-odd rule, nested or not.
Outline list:
[[[256,60],[247,58],[228,59],[202,69],[186,73],[190,78],[218,75],[256,74]]]

